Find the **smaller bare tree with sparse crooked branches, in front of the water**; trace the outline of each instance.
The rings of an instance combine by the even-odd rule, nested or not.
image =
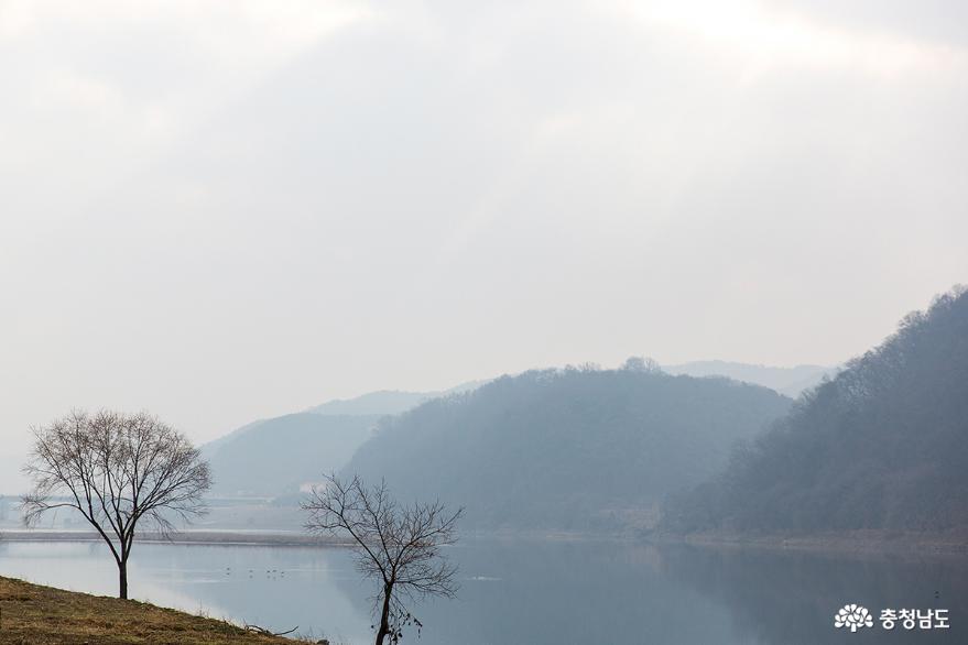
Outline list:
[[[309,514],[308,531],[352,538],[357,568],[379,583],[373,597],[373,613],[380,615],[377,645],[398,643],[406,625],[422,626],[404,600],[457,592],[457,567],[441,547],[457,542],[464,509],[449,513],[439,502],[400,505],[385,482],[368,488],[358,477],[347,482],[334,474],[313,490],[303,509]]]

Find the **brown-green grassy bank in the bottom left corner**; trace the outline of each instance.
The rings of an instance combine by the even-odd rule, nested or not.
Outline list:
[[[292,645],[213,619],[152,604],[0,578],[0,643],[30,645]]]

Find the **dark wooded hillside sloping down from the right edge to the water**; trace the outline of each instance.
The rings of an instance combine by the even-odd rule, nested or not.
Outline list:
[[[907,316],[800,400],[721,475],[673,498],[672,531],[968,529],[968,294]]]

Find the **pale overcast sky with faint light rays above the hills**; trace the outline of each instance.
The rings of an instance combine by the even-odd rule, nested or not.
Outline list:
[[[836,364],[968,282],[968,6],[0,0],[0,488],[629,356]]]

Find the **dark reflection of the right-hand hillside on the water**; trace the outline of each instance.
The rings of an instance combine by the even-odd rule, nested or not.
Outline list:
[[[957,558],[905,560],[685,546],[662,553],[671,579],[730,611],[735,636],[743,643],[841,642],[833,620],[846,603],[863,604],[878,615],[884,608],[947,606],[968,592],[968,561]],[[949,632],[934,634],[932,642],[957,642],[958,634]],[[916,634],[885,632],[875,622],[873,628],[850,636],[851,643],[880,643],[907,642]]]

